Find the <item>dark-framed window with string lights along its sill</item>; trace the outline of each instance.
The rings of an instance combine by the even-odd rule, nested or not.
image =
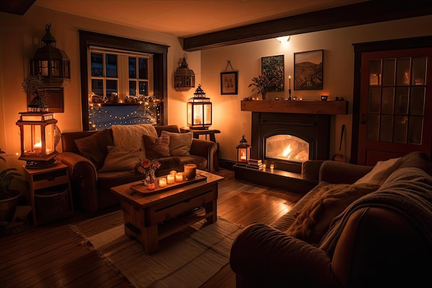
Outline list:
[[[83,130],[164,125],[168,46],[79,31]]]

